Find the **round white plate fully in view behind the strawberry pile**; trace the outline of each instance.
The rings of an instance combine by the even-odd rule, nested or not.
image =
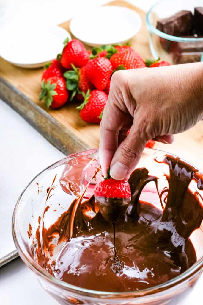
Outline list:
[[[121,6],[89,8],[70,22],[72,34],[90,46],[124,43],[138,33],[140,16]]]

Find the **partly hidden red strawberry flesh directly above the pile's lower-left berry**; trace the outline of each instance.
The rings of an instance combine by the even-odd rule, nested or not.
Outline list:
[[[57,59],[53,59],[44,65],[44,72],[42,73],[41,80],[47,80],[49,77],[58,76],[63,77],[64,68],[61,66],[61,63]]]

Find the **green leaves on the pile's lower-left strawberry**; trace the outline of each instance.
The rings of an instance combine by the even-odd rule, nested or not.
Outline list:
[[[53,102],[53,95],[58,95],[58,93],[54,90],[56,88],[56,84],[51,84],[51,81],[45,82],[43,80],[41,82],[42,91],[39,95],[39,100],[44,99],[44,104],[49,108],[51,103]]]

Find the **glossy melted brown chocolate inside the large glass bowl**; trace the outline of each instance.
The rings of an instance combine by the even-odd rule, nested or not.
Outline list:
[[[193,179],[201,189],[203,177],[180,158],[166,155],[162,162],[170,169],[168,187],[159,195],[163,211],[139,200],[148,182],[157,187],[157,178],[145,168],[136,169],[129,178],[131,202],[114,223],[116,234],[93,196],[82,202],[84,191],[50,228],[39,225],[38,263],[62,281],[109,292],[149,288],[191,267],[196,253],[189,237],[200,227],[203,206],[198,192],[192,194],[188,186]],[[61,250],[52,261],[54,238]]]

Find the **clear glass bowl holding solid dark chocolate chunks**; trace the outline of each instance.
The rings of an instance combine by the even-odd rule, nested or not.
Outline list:
[[[195,7],[202,6],[202,0],[161,0],[149,9],[146,23],[149,30],[150,50],[155,59],[160,57],[171,64],[203,61],[203,37],[177,37],[156,28],[160,19],[173,16],[181,10],[194,13]]]

